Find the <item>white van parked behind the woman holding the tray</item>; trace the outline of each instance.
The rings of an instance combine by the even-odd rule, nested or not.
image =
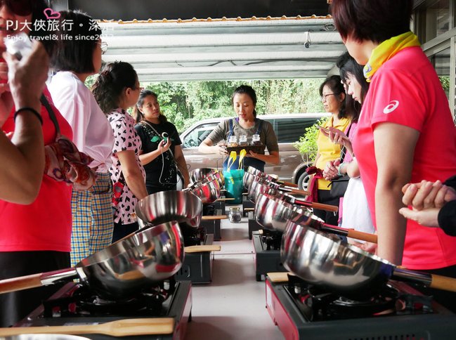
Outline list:
[[[280,164],[266,164],[266,174],[277,174],[282,181],[293,183],[306,181],[305,169],[308,164],[303,162],[298,150],[293,143],[299,140],[309,126],[315,124],[318,119],[330,117],[328,113],[295,113],[289,115],[259,115],[258,118],[266,120],[273,125],[278,139]],[[193,124],[181,134],[183,155],[190,170],[197,168],[223,167],[221,155],[202,154],[198,151],[198,145],[209,136],[209,133],[223,120],[232,117],[219,117],[204,119]],[[305,185],[304,185],[305,187]]]

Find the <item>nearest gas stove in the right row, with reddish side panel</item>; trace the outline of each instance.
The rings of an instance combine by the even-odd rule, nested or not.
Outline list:
[[[287,340],[454,339],[456,334],[454,313],[403,282],[390,281],[370,299],[353,301],[293,275],[288,282],[271,277],[266,308]]]

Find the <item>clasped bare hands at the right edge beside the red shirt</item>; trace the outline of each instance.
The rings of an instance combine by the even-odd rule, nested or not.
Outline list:
[[[440,209],[446,202],[456,200],[455,190],[443,185],[441,181],[408,183],[403,186],[402,191],[403,204],[411,205],[414,210]]]

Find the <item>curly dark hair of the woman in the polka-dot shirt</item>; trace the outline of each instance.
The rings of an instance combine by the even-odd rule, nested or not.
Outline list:
[[[92,86],[93,96],[101,110],[109,115],[119,107],[124,89],[136,90],[136,80],[138,74],[129,63],[116,61],[105,65]]]

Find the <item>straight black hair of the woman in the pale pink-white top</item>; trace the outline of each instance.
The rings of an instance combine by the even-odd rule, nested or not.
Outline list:
[[[98,24],[81,11],[61,11],[58,20],[58,30],[53,34],[72,38],[55,41],[51,55],[53,69],[76,73],[98,72],[93,69],[93,51],[101,36]],[[72,25],[63,25],[63,20],[72,22]]]

